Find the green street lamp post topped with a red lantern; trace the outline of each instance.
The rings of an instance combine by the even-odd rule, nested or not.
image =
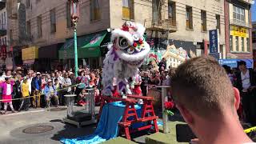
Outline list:
[[[70,2],[70,15],[74,25],[74,74],[78,77],[78,42],[77,42],[77,23],[79,18],[79,0],[69,0]]]

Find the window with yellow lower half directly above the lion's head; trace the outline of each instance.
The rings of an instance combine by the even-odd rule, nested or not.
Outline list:
[[[122,0],[122,18],[134,20],[134,0]]]

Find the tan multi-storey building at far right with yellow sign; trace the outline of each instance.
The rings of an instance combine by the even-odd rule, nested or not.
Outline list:
[[[251,11],[253,0],[225,0],[226,52],[229,58],[253,58]]]

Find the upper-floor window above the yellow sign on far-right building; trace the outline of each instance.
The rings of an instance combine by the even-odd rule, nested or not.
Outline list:
[[[233,5],[233,20],[235,23],[245,24],[246,23],[245,9],[242,7]]]

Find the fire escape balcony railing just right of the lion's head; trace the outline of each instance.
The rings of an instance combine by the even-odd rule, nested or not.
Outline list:
[[[146,30],[166,31],[173,33],[177,31],[177,22],[171,19],[155,20],[152,18],[146,19],[144,22]]]

